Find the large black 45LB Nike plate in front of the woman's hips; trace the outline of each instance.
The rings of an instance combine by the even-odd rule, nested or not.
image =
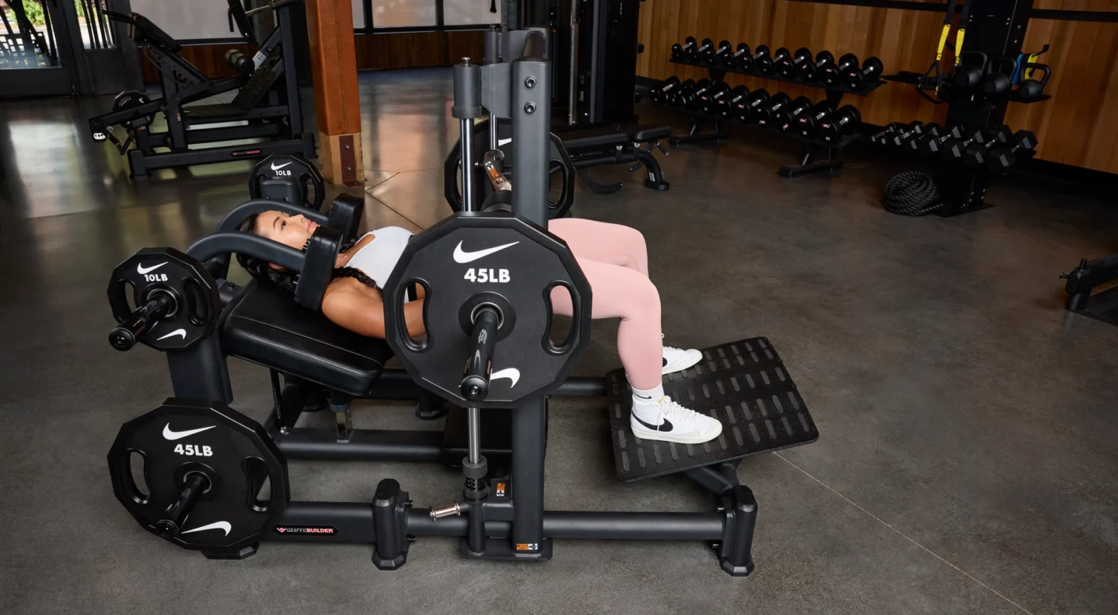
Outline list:
[[[426,287],[427,337],[410,340],[404,329],[405,291]],[[561,351],[549,350],[549,286],[571,293],[576,318]],[[482,403],[513,408],[552,391],[570,373],[590,340],[590,286],[570,249],[555,235],[506,214],[459,212],[415,236],[385,285],[385,330],[408,373],[428,390],[459,406],[470,334],[459,322],[462,305],[477,293],[496,293],[515,310],[515,325],[493,353],[490,392]],[[505,321],[511,320],[505,316]]]

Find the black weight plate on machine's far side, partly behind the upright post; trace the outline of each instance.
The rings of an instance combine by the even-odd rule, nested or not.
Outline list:
[[[443,193],[446,198],[447,205],[454,211],[462,211],[462,188],[458,182],[462,179],[462,143],[461,138],[455,141],[454,149],[447,154],[446,161],[443,164]],[[512,163],[512,124],[509,120],[500,120],[498,122],[498,148],[504,153],[503,165],[508,168]],[[482,155],[491,149],[490,136],[489,136],[489,120],[482,120],[474,124],[474,162],[479,162]],[[575,204],[575,162],[570,159],[570,154],[567,152],[566,145],[562,143],[557,134],[551,133],[551,146],[550,146],[550,160],[551,160],[551,172],[559,172],[562,189],[560,190],[557,200],[548,204],[548,216],[551,219],[562,218],[569,211],[571,206]],[[513,187],[517,186],[517,180],[512,173],[509,173],[509,180],[512,182]],[[477,174],[474,179],[475,190],[479,193],[477,202],[481,204],[485,200],[493,191],[493,186],[490,183],[489,178],[485,176],[484,171],[479,167]],[[481,207],[479,205],[479,207]]]

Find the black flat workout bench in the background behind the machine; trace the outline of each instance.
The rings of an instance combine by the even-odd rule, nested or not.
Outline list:
[[[559,136],[575,163],[575,169],[578,170],[578,177],[596,193],[608,195],[620,190],[624,183],[620,181],[609,184],[598,183],[590,178],[587,169],[601,164],[633,162],[629,171],[636,171],[642,165],[648,170],[648,179],[644,180],[645,188],[667,190],[670,184],[664,180],[664,172],[661,170],[656,157],[653,155],[652,148],[656,146],[664,152],[664,155],[667,155],[667,150],[660,144],[660,140],[666,139],[671,133],[671,126],[610,124],[563,131],[559,133]]]

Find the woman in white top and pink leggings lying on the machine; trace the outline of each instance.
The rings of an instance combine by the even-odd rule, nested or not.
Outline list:
[[[246,218],[239,230],[302,249],[316,226],[303,216],[265,211]],[[698,363],[702,353],[662,344],[660,293],[648,280],[644,236],[627,226],[578,218],[551,220],[548,230],[567,242],[590,283],[593,318],[620,319],[617,353],[633,387],[633,435],[683,444],[718,437],[721,423],[664,395],[663,375]],[[367,233],[342,249],[334,280],[322,299],[322,313],[350,331],[383,339],[385,304],[378,283],[388,280],[410,236],[390,226]],[[257,280],[295,287],[296,276],[287,269],[239,254],[237,261]],[[571,315],[570,295],[562,288],[552,292],[551,303],[557,314]],[[408,332],[421,335],[423,297],[405,304],[404,313]]]

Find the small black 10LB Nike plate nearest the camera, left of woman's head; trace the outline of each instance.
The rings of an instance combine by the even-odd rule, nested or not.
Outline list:
[[[168,293],[174,300],[174,309],[140,335],[139,341],[155,350],[190,348],[214,330],[221,313],[217,282],[196,258],[174,248],[141,249],[113,269],[108,304],[116,322],[124,322],[153,292]]]

